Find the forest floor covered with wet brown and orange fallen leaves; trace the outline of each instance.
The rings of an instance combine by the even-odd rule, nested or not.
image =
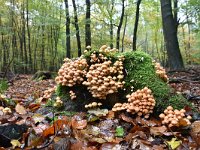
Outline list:
[[[169,72],[170,86],[182,93],[200,111],[200,66],[190,66],[183,72]],[[42,104],[35,100],[54,87],[54,80],[35,81],[32,75],[18,75],[5,96],[0,96],[0,107],[11,108],[3,115],[0,109],[0,150],[13,149],[198,149],[200,121],[190,129],[169,129],[155,118],[131,118],[126,113],[95,117],[86,113],[46,115],[37,113]],[[11,106],[5,99],[18,103]],[[24,126],[28,130],[24,130]],[[15,125],[15,126],[14,126]],[[5,130],[14,130],[9,135]],[[22,134],[24,133],[24,134]]]

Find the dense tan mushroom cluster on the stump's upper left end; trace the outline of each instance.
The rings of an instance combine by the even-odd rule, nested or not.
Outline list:
[[[88,64],[86,59],[79,58],[71,60],[68,58],[64,59],[64,64],[58,71],[58,76],[55,78],[57,84],[62,86],[72,87],[75,84],[83,82],[86,75]]]

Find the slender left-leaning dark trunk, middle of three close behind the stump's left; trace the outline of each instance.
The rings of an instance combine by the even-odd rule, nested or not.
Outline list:
[[[81,56],[81,39],[79,34],[79,26],[78,26],[78,15],[76,10],[76,2],[72,0],[73,8],[74,8],[74,26],[76,29],[76,40],[77,40],[77,47],[78,47],[78,57]]]

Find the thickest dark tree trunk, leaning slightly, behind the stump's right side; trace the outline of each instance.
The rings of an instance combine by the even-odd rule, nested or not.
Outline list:
[[[183,59],[179,49],[176,25],[172,15],[171,0],[160,0],[168,64],[170,70],[184,69]]]

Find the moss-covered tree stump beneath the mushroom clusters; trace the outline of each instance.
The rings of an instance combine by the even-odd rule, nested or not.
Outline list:
[[[98,51],[96,52],[98,53]],[[89,65],[91,53],[92,51],[89,51],[85,54],[85,58]],[[156,100],[156,106],[154,108],[155,113],[162,112],[169,105],[172,105],[175,109],[181,109],[186,105],[190,105],[183,96],[174,94],[169,85],[156,74],[152,58],[148,54],[142,51],[130,51],[125,53],[115,53],[113,55],[109,54],[107,57],[112,62],[115,62],[118,56],[121,55],[125,57],[123,62],[125,85],[122,89],[119,89],[117,93],[107,95],[105,100],[99,100],[92,97],[91,93],[87,90],[87,87],[82,84],[73,87],[58,85],[56,94],[63,100],[65,110],[86,111],[84,106],[91,102],[101,102],[103,104],[101,106],[102,108],[111,109],[117,102],[126,102],[127,94],[144,87],[148,87],[152,90],[153,96]],[[76,99],[70,99],[70,90],[75,92]]]

